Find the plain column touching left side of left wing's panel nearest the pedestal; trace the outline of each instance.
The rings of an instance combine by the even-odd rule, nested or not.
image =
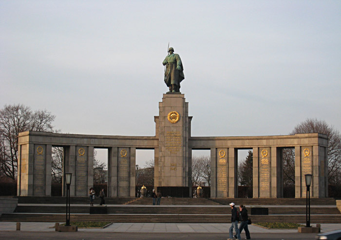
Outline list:
[[[117,197],[117,166],[118,166],[118,148],[108,149],[108,197]]]

